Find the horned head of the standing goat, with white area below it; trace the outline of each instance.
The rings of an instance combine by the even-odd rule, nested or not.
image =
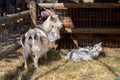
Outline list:
[[[59,29],[61,29],[63,26],[60,19],[58,18],[58,15],[53,9],[49,10],[44,8],[44,10],[45,11],[41,12],[41,16],[47,18],[47,20],[43,23],[43,28],[48,32],[49,41],[53,42],[57,39],[60,39]]]

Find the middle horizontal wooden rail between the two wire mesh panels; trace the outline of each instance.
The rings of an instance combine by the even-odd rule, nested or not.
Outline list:
[[[65,28],[61,33],[120,34],[120,28]]]

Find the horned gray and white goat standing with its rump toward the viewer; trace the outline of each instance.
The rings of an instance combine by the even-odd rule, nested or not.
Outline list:
[[[38,59],[47,55],[48,43],[60,38],[59,29],[62,28],[62,23],[58,15],[54,10],[49,9],[45,9],[41,14],[43,17],[47,16],[43,24],[37,25],[34,29],[30,29],[21,38],[24,49],[23,57],[25,68],[28,67],[27,60],[29,56],[33,59],[34,66],[38,68]],[[53,35],[51,35],[51,33],[53,33]],[[52,40],[51,37],[53,38]]]

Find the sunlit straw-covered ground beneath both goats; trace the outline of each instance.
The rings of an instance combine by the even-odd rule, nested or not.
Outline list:
[[[120,76],[120,49],[104,48],[93,61],[66,61],[68,50],[50,50],[48,59],[24,69],[22,48],[0,61],[0,80],[115,80]]]

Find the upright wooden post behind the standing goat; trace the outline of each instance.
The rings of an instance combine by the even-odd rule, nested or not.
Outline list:
[[[30,2],[30,15],[34,27],[37,25],[37,3],[35,1]]]

